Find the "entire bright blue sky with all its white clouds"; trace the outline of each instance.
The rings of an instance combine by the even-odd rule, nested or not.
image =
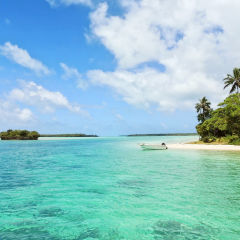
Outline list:
[[[195,132],[228,94],[239,0],[0,0],[0,131]]]

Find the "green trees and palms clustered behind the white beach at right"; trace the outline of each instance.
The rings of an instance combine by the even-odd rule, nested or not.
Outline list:
[[[195,108],[199,124],[196,126],[200,141],[205,143],[240,145],[240,69],[224,78],[224,89],[230,87],[229,96],[217,109],[203,97]]]

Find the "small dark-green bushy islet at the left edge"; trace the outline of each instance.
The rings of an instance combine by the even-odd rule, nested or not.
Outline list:
[[[0,137],[2,140],[38,140],[39,133],[36,131],[27,130],[7,130],[1,132]]]

